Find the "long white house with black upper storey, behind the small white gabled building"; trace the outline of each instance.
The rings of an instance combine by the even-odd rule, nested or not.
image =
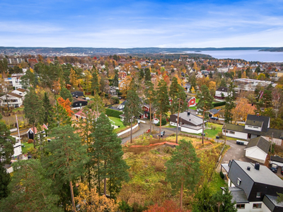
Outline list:
[[[262,136],[267,141],[272,141],[278,146],[282,145],[283,130],[270,128],[270,117],[248,114],[245,125],[224,124],[223,134],[226,136],[250,140]]]

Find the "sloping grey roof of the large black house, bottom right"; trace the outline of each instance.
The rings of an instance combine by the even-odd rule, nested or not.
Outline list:
[[[277,187],[283,187],[283,180],[275,175],[268,167],[265,165],[260,165],[260,170],[255,170],[253,163],[243,162],[240,160],[233,160],[238,164],[241,169],[246,172],[246,174],[253,179],[253,182],[258,182],[262,184],[270,184]],[[250,170],[247,167],[250,166]]]

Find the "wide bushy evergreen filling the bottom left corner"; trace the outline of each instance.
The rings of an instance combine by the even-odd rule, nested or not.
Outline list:
[[[52,194],[52,181],[39,160],[19,160],[13,163],[13,177],[8,185],[10,194],[1,199],[0,211],[62,211],[58,196]]]

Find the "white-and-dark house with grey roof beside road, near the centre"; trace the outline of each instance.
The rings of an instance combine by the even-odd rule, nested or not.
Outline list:
[[[177,126],[178,114],[172,114],[170,116],[170,125]],[[207,121],[204,121],[204,124]],[[180,131],[185,131],[192,134],[202,133],[202,118],[198,117],[195,114],[192,114],[190,111],[180,112],[179,114],[179,125]]]

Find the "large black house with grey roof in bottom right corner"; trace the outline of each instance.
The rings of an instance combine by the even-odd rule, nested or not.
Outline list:
[[[283,204],[277,203],[277,192],[283,192],[283,181],[268,167],[230,160],[229,164],[221,164],[221,170],[227,173],[229,191],[238,211],[283,211]]]

